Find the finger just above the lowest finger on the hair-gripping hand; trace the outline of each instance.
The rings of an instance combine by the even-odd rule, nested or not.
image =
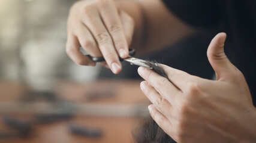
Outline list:
[[[159,95],[158,92],[151,85],[147,84],[146,81],[140,83],[140,88],[147,98],[149,98],[149,100],[155,105],[155,107],[158,108],[162,114],[164,114],[164,116],[170,116],[172,110],[170,102]]]

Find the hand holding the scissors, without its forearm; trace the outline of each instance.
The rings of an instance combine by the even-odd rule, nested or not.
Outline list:
[[[113,0],[84,0],[71,8],[67,31],[66,50],[75,63],[95,66],[79,51],[82,46],[93,57],[103,56],[106,62],[101,64],[117,74],[122,69],[119,56],[126,58],[129,54],[134,21]]]

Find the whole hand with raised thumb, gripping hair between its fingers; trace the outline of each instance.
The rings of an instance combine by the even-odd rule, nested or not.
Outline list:
[[[217,80],[162,65],[168,79],[139,67],[141,90],[153,103],[153,120],[177,142],[254,142],[256,110],[243,74],[224,53],[225,33],[213,38],[207,57]]]

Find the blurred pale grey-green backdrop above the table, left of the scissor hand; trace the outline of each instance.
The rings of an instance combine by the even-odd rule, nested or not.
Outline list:
[[[66,21],[74,2],[0,0],[1,79],[35,88],[58,79],[95,80],[97,67],[77,66],[65,54]]]

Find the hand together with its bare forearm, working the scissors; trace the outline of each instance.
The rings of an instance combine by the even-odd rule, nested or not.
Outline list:
[[[93,57],[103,56],[106,63],[100,64],[118,74],[122,70],[118,57],[126,58],[128,47],[137,52],[157,50],[194,30],[174,17],[161,0],[84,0],[71,7],[67,32],[66,51],[75,63],[95,66],[79,51],[82,46]]]

